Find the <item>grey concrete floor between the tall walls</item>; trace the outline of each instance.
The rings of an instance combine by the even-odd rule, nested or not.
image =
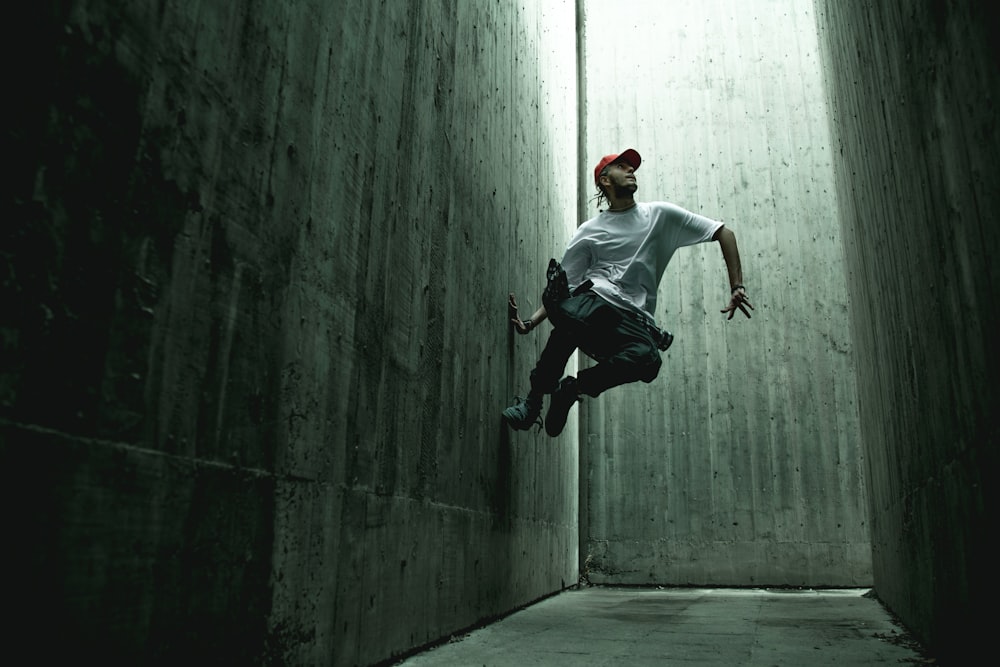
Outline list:
[[[868,589],[573,589],[398,665],[923,664]]]

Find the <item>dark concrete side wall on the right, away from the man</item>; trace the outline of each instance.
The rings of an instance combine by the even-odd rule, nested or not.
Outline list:
[[[875,590],[939,656],[988,651],[1000,356],[988,3],[818,2]]]

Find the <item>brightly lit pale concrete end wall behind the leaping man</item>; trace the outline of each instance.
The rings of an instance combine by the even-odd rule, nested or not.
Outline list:
[[[808,0],[587,4],[587,164],[634,147],[640,200],[730,226],[756,307],[727,321],[718,244],[679,250],[660,377],[584,405],[591,582],[871,582],[815,26]]]

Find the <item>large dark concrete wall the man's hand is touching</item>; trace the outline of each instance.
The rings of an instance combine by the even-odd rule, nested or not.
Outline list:
[[[507,294],[537,305],[575,223],[574,16],[19,24],[0,461],[33,651],[371,664],[576,583],[576,440],[499,421],[542,343]]]

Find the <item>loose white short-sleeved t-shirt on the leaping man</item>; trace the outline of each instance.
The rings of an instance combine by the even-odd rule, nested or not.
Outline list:
[[[637,309],[651,321],[660,278],[677,248],[710,241],[722,223],[669,202],[636,202],[603,211],[580,225],[562,266],[570,290],[587,279],[613,305]]]

